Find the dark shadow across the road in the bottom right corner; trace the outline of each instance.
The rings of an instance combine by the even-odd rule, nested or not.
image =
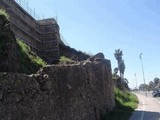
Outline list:
[[[135,111],[129,120],[160,120],[160,112]]]

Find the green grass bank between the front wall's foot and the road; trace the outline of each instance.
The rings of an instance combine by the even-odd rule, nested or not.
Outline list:
[[[128,91],[115,88],[116,108],[106,114],[104,120],[128,120],[138,105],[137,97]]]

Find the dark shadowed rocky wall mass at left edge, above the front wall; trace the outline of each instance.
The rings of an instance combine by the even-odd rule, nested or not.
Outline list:
[[[8,19],[0,15],[0,71],[19,70],[18,44]]]

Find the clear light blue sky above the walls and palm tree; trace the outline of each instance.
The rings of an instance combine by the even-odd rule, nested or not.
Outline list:
[[[160,77],[160,0],[28,0],[44,18],[57,17],[69,46],[84,52],[103,52],[117,66],[121,49],[129,86],[143,83],[139,54],[143,53],[146,83]]]

